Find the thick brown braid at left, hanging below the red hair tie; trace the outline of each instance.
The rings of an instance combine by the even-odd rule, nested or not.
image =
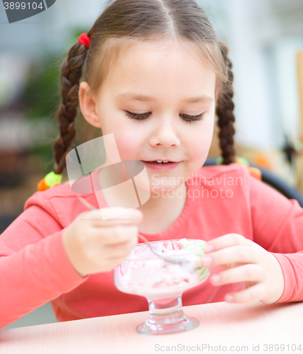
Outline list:
[[[81,42],[76,42],[61,64],[61,101],[57,113],[60,131],[54,142],[54,173],[57,174],[64,170],[66,154],[76,137],[74,120],[79,103],[79,81],[87,52]]]

